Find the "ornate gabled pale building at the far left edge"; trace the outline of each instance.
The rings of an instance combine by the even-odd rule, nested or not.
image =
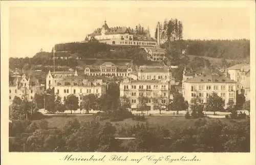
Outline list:
[[[38,79],[29,77],[23,74],[16,75],[9,79],[9,100],[12,101],[15,96],[28,101],[33,100],[35,93],[43,94],[45,92],[45,85],[39,84]]]

